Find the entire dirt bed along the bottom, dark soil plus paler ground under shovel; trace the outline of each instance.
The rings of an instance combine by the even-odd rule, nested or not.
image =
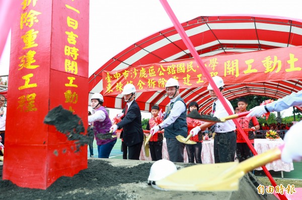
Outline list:
[[[121,159],[88,159],[88,168],[73,177],[60,177],[47,189],[22,188],[2,180],[1,199],[277,199],[272,194],[261,195],[260,184],[253,174],[241,180],[240,189],[230,192],[162,191],[147,185],[153,162]],[[177,163],[177,167],[189,164]]]

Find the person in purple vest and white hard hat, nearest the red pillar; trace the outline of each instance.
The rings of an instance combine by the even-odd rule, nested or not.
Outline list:
[[[93,123],[93,130],[98,145],[98,157],[109,158],[110,152],[117,141],[117,137],[100,139],[98,134],[106,134],[112,126],[109,114],[103,106],[104,98],[100,93],[94,93],[91,97],[92,115],[88,116],[88,123]],[[116,135],[113,131],[112,135]]]

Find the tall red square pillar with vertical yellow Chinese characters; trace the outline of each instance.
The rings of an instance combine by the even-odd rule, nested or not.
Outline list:
[[[43,123],[62,105],[87,123],[89,1],[20,1],[12,27],[3,179],[46,189],[87,168],[87,146]]]

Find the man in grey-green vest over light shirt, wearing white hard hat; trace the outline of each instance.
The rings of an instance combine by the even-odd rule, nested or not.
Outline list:
[[[150,131],[153,134],[165,128],[169,160],[172,162],[184,162],[185,143],[179,142],[176,136],[187,137],[187,105],[179,94],[179,83],[170,78],[166,83],[166,92],[171,99],[164,121],[154,126]]]

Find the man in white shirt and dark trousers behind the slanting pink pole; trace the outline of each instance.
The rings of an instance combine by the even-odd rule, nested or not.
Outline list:
[[[221,77],[214,76],[213,81],[217,88],[220,90],[221,94],[223,94],[223,80]],[[228,116],[228,112],[226,112],[222,103],[219,99],[217,99],[217,95],[215,94],[212,86],[209,84],[207,87],[211,98],[214,100],[212,105],[213,117],[221,118]],[[228,103],[230,108],[234,113],[234,108],[230,101],[224,97],[225,101]],[[196,126],[190,132],[193,133],[193,136],[197,135],[200,130],[205,130],[207,127],[214,125],[212,128],[215,132],[214,139],[214,160],[215,163],[220,162],[232,162],[235,160],[235,152],[236,152],[236,134],[235,134],[235,123],[232,120],[228,120],[226,122],[212,123],[205,122],[200,126]],[[213,132],[213,131],[212,131]]]

